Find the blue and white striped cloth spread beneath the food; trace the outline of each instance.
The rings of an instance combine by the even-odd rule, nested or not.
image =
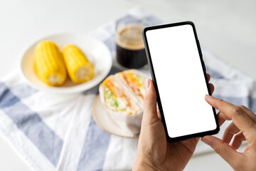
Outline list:
[[[161,23],[139,8],[124,18]],[[107,44],[112,56],[115,22],[92,32]],[[208,51],[203,50],[203,58],[215,85],[214,95],[255,112],[256,86],[252,78]],[[116,71],[112,68],[112,73]],[[148,69],[142,72],[149,74]],[[33,170],[131,170],[138,140],[110,135],[95,124],[92,101],[97,92],[96,86],[73,95],[46,93],[28,86],[18,72],[11,73],[0,80],[0,133]],[[218,136],[222,134],[223,128]],[[200,142],[196,154],[208,150]]]

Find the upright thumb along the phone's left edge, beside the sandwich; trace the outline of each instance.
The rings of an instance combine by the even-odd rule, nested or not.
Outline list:
[[[145,82],[146,92],[144,95],[144,118],[149,120],[158,119],[156,112],[156,90],[154,83],[150,79],[146,79]]]

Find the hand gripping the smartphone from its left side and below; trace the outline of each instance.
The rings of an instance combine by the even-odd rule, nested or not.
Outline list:
[[[210,75],[208,81],[210,80]],[[210,84],[211,92],[214,87]],[[134,170],[183,170],[191,159],[199,138],[169,143],[156,105],[156,91],[146,81],[144,114]]]

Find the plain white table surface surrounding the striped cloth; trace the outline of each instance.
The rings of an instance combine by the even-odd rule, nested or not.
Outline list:
[[[18,58],[38,38],[88,32],[140,6],[166,22],[193,21],[201,46],[256,79],[256,1],[0,1],[0,77],[18,68]],[[31,170],[0,138],[0,170]],[[192,157],[186,170],[231,170],[214,152]]]

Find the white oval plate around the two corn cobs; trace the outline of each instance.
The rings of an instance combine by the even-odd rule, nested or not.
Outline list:
[[[42,40],[54,41],[58,44],[60,51],[66,44],[75,44],[87,56],[88,60],[95,67],[95,76],[87,83],[73,83],[70,78],[62,86],[51,87],[39,80],[33,71],[34,48],[36,43]],[[21,73],[28,83],[39,90],[46,90],[54,93],[78,93],[88,90],[100,83],[112,67],[112,56],[107,46],[96,38],[92,38],[85,33],[60,33],[33,43],[21,56]]]

